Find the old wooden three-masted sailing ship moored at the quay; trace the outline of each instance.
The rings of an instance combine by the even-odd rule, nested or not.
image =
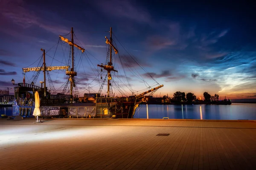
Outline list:
[[[64,36],[59,36],[61,42],[67,43],[70,45],[70,58],[69,62],[66,66],[47,66],[46,65],[46,52],[44,49],[41,49],[43,52],[42,59],[43,64],[41,67],[32,67],[32,68],[23,68],[23,82],[18,83],[17,87],[15,87],[15,105],[13,105],[13,115],[21,115],[21,116],[32,116],[33,109],[34,109],[34,94],[35,91],[38,91],[39,97],[40,97],[40,109],[42,117],[60,117],[60,116],[72,116],[72,117],[94,117],[94,118],[133,118],[136,109],[139,107],[139,105],[143,102],[147,102],[147,99],[145,95],[149,94],[152,95],[157,89],[163,87],[163,85],[160,85],[156,82],[155,87],[152,88],[152,86],[149,86],[146,88],[145,91],[141,91],[142,93],[135,95],[134,92],[132,92],[131,95],[127,95],[122,92],[122,85],[119,85],[116,81],[113,80],[112,77],[118,78],[116,76],[116,73],[118,73],[117,70],[114,69],[113,65],[113,54],[119,55],[119,51],[116,47],[116,43],[112,39],[112,28],[110,28],[110,37],[105,37],[105,42],[108,48],[107,52],[107,59],[105,64],[99,64],[97,65],[101,70],[98,76],[100,76],[100,80],[102,81],[100,83],[100,89],[98,93],[93,94],[94,101],[95,102],[78,102],[78,95],[79,91],[77,88],[77,72],[75,68],[75,62],[74,62],[74,47],[76,47],[81,53],[83,54],[85,49],[78,45],[77,43],[74,43],[74,32],[73,28],[71,28],[71,40],[68,40]],[[57,45],[58,46],[58,45]],[[123,46],[123,45],[122,45]],[[112,51],[113,50],[113,51]],[[126,51],[126,50],[125,50]],[[130,54],[129,54],[130,55]],[[121,65],[123,65],[123,62],[125,60],[121,59],[120,55],[118,56],[120,59]],[[130,57],[139,65],[139,63],[130,55]],[[39,65],[38,65],[39,66]],[[129,67],[128,64],[125,65],[126,67]],[[139,65],[141,68],[143,68],[141,65]],[[134,67],[130,68],[130,70],[134,72]],[[68,76],[67,81],[63,85],[64,88],[62,90],[62,93],[57,93],[58,91],[55,90],[53,81],[50,77],[49,71],[53,70],[65,70],[66,75]],[[145,71],[145,69],[143,68]],[[27,72],[33,71],[34,74],[32,76],[32,79],[29,80],[29,82],[25,81],[25,74]],[[36,86],[35,82],[38,79],[38,76],[40,72],[43,71],[44,73],[44,82],[41,83],[40,86]],[[124,71],[124,70],[123,70]],[[125,71],[124,71],[125,73]],[[46,74],[48,77],[49,87],[46,86]],[[105,74],[105,78],[103,79],[102,75]],[[149,75],[149,74],[148,74]],[[137,77],[137,75],[135,75]],[[128,80],[127,74],[125,73],[125,77]],[[151,76],[150,76],[151,77]],[[139,77],[145,84],[145,80],[140,75]],[[153,77],[151,77],[154,79]],[[95,78],[96,79],[96,78]],[[105,94],[103,92],[103,88],[105,87],[105,82],[107,81],[107,88],[105,91]],[[129,81],[129,80],[128,80]],[[14,80],[12,79],[13,84],[15,84]],[[115,93],[113,93],[113,85],[115,84],[117,91],[120,92],[120,96],[115,96]],[[43,87],[44,85],[44,87]],[[66,94],[67,88],[70,85],[69,94]],[[131,87],[131,84],[128,82],[128,86]],[[90,89],[90,87],[88,87]],[[130,91],[132,88],[129,89]],[[136,91],[135,91],[136,92]],[[90,91],[89,91],[90,95]]]

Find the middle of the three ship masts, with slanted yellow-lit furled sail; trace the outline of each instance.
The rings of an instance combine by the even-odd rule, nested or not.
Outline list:
[[[73,100],[73,87],[76,87],[75,83],[74,83],[74,77],[77,75],[77,72],[74,71],[74,46],[76,48],[78,48],[79,50],[82,51],[82,53],[85,51],[84,48],[81,48],[79,45],[76,45],[74,43],[74,39],[73,39],[73,27],[71,28],[71,41],[68,40],[67,38],[64,38],[62,36],[60,36],[61,40],[64,42],[67,42],[70,46],[71,46],[71,52],[72,52],[72,68],[70,69],[70,71],[66,71],[66,75],[69,75],[69,81],[70,81],[70,102],[72,102]]]

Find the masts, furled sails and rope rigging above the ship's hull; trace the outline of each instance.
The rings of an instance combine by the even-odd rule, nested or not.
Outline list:
[[[110,37],[105,37],[107,58],[104,64],[99,64],[99,59],[83,48],[83,45],[73,32],[73,28],[71,28],[70,33],[67,34],[71,35],[71,39],[66,38],[67,35],[59,36],[60,39],[58,43],[55,44],[56,49],[53,57],[49,53],[44,52],[41,59],[39,58],[40,61],[37,67],[23,68],[24,73],[28,71],[35,71],[28,83],[36,83],[40,72],[45,69],[44,73],[47,73],[51,94],[56,94],[57,92],[62,92],[62,94],[69,93],[70,96],[72,96],[71,99],[74,94],[80,96],[85,92],[99,93],[101,96],[137,96],[144,91],[158,87],[160,84],[150,74],[148,74],[143,65],[141,65],[140,62],[130,52],[128,52],[127,48],[125,48],[125,46],[117,39],[116,35],[113,34],[112,28],[109,32]],[[61,50],[63,53],[61,61],[55,57],[57,48],[60,47],[59,44],[61,44]],[[68,46],[70,46],[70,48]],[[77,52],[74,52],[74,47],[77,48]],[[69,49],[69,55],[66,55],[67,49]],[[60,50],[57,52],[60,52]],[[42,63],[42,59],[45,55],[47,55],[47,58],[51,57],[52,62],[55,60],[61,62],[61,65],[64,64],[65,66],[52,66],[52,62],[50,66],[47,66],[45,61]],[[66,59],[65,56],[68,56],[68,59]],[[86,62],[83,62],[83,59],[86,59]],[[99,64],[98,69],[95,67],[97,65],[96,63]],[[88,67],[88,65],[90,67]],[[84,69],[84,73],[81,71],[81,67]],[[86,67],[89,69],[85,69]],[[145,72],[145,74],[141,74],[140,71],[138,71],[138,68]],[[64,78],[64,81],[62,80],[63,85],[55,89],[53,82],[60,82],[60,78],[57,74],[56,79],[52,81],[49,71],[58,70],[66,70],[66,75],[68,75],[69,78]],[[78,71],[79,76],[78,78],[75,78]],[[146,74],[147,77],[151,77],[151,79],[153,79],[154,83],[149,83],[144,79]],[[136,78],[137,81],[134,82],[133,78]],[[44,78],[44,80],[45,79],[46,78]],[[44,82],[46,82],[46,80]],[[105,87],[106,83],[108,84],[107,87]],[[134,83],[136,84],[136,88],[138,83],[144,84],[145,88],[137,90]],[[44,83],[44,86],[46,86],[46,83]],[[150,91],[150,95],[152,95],[156,90],[157,89]]]

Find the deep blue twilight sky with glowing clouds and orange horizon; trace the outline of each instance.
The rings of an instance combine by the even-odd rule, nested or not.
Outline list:
[[[81,94],[88,93],[88,86],[91,93],[98,92],[100,85],[92,80],[100,70],[97,64],[105,63],[105,36],[112,27],[113,39],[164,85],[154,96],[181,91],[203,98],[207,91],[230,99],[256,98],[256,6],[245,1],[213,2],[0,0],[0,89],[13,88],[12,78],[22,82],[22,68],[37,67],[41,48],[47,51],[48,66],[67,63],[70,47],[58,43],[58,35],[73,27],[75,42],[86,50],[83,55],[75,51],[77,80],[79,88],[84,87]],[[125,53],[121,45],[117,48]],[[113,58],[120,65],[118,55]],[[32,74],[26,74],[26,81]],[[67,79],[63,71],[51,74],[55,88]],[[126,74],[135,92],[155,85],[145,72],[140,76],[148,84]],[[39,81],[42,73],[36,83],[41,86]]]

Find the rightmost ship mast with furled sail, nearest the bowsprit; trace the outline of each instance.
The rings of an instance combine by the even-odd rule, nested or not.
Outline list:
[[[115,54],[118,53],[117,49],[113,46],[112,44],[112,27],[110,27],[110,40],[108,40],[107,37],[106,38],[106,44],[109,44],[110,45],[110,54],[109,54],[109,62],[108,62],[108,65],[98,65],[99,67],[102,67],[104,68],[105,70],[108,71],[108,97],[110,96],[109,94],[109,88],[111,86],[111,83],[110,83],[110,80],[112,79],[111,77],[111,71],[116,71],[114,70],[114,67],[112,65],[112,48],[114,49],[115,51]],[[116,71],[117,72],[117,71]]]

